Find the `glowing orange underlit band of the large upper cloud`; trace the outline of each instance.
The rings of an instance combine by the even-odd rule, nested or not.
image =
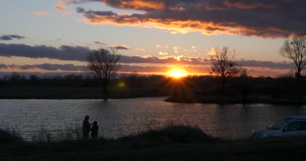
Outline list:
[[[260,37],[286,37],[288,33],[277,27],[261,27],[261,26],[243,26],[236,22],[217,23],[205,20],[180,20],[179,15],[173,18],[153,18],[155,15],[150,13],[143,14],[115,14],[112,12],[85,12],[79,8],[79,13],[83,13],[87,18],[86,23],[90,24],[112,24],[117,26],[139,26],[146,28],[158,28],[168,30],[173,34],[201,32],[204,35],[245,35]],[[181,14],[182,15],[182,14]]]

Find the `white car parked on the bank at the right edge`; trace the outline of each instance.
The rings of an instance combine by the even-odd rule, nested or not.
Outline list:
[[[254,129],[251,138],[306,136],[306,116],[284,117],[266,129]]]

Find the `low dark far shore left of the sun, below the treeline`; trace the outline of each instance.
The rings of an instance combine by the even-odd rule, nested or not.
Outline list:
[[[101,87],[5,87],[0,88],[0,99],[104,99]],[[108,99],[168,97],[156,88],[110,89]]]

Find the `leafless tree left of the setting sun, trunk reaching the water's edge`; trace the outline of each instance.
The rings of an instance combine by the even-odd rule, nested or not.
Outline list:
[[[114,48],[109,50],[99,49],[88,55],[87,66],[100,79],[106,98],[108,98],[107,87],[109,81],[115,78],[116,72],[120,68],[120,64],[118,64],[120,58],[121,55],[117,54],[117,49]]]

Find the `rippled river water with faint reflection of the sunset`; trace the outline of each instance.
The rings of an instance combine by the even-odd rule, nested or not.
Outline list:
[[[108,138],[169,123],[197,125],[212,136],[247,138],[252,129],[281,117],[306,114],[305,106],[178,104],[164,99],[0,100],[0,128],[17,126],[30,137],[42,125],[50,131],[64,129],[70,122],[82,124],[90,115],[90,122],[98,121],[99,133]]]

